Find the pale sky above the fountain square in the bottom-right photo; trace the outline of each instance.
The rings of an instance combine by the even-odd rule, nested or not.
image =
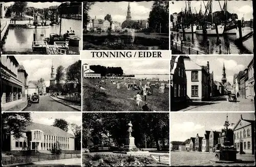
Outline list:
[[[184,142],[187,138],[203,137],[205,130],[221,131],[228,116],[229,128],[239,119],[254,120],[254,113],[176,113],[170,114],[170,141]],[[234,124],[231,126],[231,124]]]

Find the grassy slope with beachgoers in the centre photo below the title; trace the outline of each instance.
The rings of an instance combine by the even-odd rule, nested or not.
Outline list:
[[[143,102],[140,103],[140,106],[136,105],[136,100],[127,99],[133,98],[140,91],[127,90],[122,84],[120,84],[120,89],[116,89],[117,85],[113,85],[110,80],[106,80],[106,84],[101,84],[106,89],[101,90],[96,86],[100,80],[102,79],[83,79],[83,111],[142,111],[141,107],[145,103],[143,95],[141,95]],[[135,82],[137,85],[140,83],[138,79]],[[142,81],[142,85],[146,82],[148,81]],[[150,82],[151,84],[155,82],[168,84],[167,81]],[[141,86],[139,87],[141,88]],[[153,86],[153,95],[147,96],[147,105],[152,110],[168,111],[169,88],[165,88],[164,93],[158,93],[158,90]]]

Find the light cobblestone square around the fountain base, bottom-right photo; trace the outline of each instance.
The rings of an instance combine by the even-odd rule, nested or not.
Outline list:
[[[212,165],[212,166],[253,166],[254,157],[253,155],[237,154],[237,159],[241,159],[238,163],[216,163],[214,153],[209,152],[185,152],[185,151],[172,151],[170,152],[170,165],[171,166],[196,166],[196,165]]]

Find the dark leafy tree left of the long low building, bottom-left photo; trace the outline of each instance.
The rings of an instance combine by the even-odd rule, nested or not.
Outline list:
[[[2,133],[13,135],[15,139],[23,137],[26,127],[32,124],[30,113],[3,113]]]

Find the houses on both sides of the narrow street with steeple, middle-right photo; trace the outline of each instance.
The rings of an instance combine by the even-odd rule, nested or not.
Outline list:
[[[254,98],[253,59],[244,71],[234,74],[232,85],[226,79],[223,64],[221,81],[214,80],[209,62],[198,65],[188,56],[172,55],[170,60],[170,98],[173,105],[187,100],[205,101],[210,97],[239,93],[244,98]]]

